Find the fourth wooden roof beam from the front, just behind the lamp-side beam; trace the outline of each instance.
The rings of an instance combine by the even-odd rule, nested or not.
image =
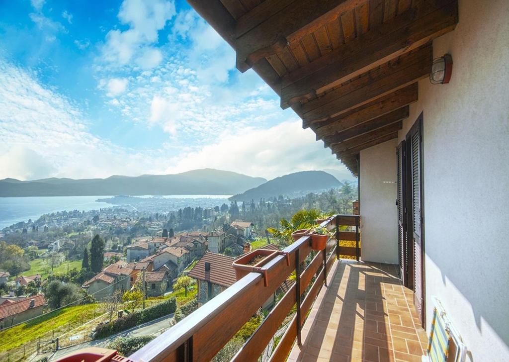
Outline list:
[[[404,107],[417,101],[418,86],[412,83],[403,89],[397,90],[370,103],[354,108],[347,113],[331,118],[325,122],[313,123],[310,127],[317,135],[317,141],[327,135],[341,132],[363,122],[383,116],[395,109]]]

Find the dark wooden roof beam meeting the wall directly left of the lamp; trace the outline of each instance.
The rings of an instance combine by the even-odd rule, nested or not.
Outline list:
[[[426,78],[432,60],[433,49],[428,44],[364,73],[320,98],[292,108],[304,120],[303,125],[335,117]]]

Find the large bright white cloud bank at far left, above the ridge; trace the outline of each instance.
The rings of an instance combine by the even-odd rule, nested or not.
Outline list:
[[[79,108],[1,58],[0,84],[0,178],[137,175],[162,162],[91,134]]]

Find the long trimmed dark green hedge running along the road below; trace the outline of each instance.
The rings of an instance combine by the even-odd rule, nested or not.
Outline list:
[[[101,339],[123,330],[135,327],[139,324],[149,322],[159,317],[172,314],[177,309],[175,298],[169,298],[161,303],[157,303],[142,311],[137,311],[121,318],[118,318],[108,324],[100,324],[96,327],[95,339]]]

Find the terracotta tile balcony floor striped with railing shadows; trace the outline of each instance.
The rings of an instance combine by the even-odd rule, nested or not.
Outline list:
[[[417,361],[428,343],[397,266],[335,262],[289,361]]]

